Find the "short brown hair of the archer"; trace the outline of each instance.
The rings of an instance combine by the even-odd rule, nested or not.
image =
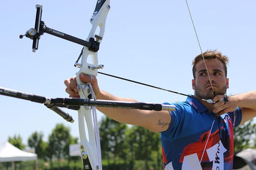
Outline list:
[[[224,65],[224,69],[225,69],[225,75],[226,75],[226,78],[227,78],[227,65],[229,63],[229,59],[226,55],[222,55],[221,52],[217,51],[217,50],[207,50],[205,51],[203,54],[199,54],[197,55],[193,62],[192,62],[192,65],[193,65],[193,68],[192,68],[192,72],[193,72],[193,77],[195,79],[195,65],[200,61],[200,60],[203,60],[203,56],[204,56],[204,59],[214,59],[214,58],[217,58],[219,61],[221,61]]]

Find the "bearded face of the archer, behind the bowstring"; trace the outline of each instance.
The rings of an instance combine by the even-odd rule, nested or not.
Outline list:
[[[224,95],[226,86],[228,86],[228,78],[225,75],[224,64],[218,59],[205,59],[207,69],[212,81],[215,95]],[[195,90],[195,96],[203,99],[212,99],[214,93],[210,84],[209,77],[204,65],[204,60],[199,61],[195,65],[195,79],[192,80],[192,88]]]

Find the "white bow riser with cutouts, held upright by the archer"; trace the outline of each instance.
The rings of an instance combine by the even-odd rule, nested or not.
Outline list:
[[[108,12],[110,10],[110,0],[98,0],[95,11],[90,19],[92,28],[87,37],[87,41],[93,38],[95,31],[99,26],[99,35],[95,36],[97,42],[101,42],[101,39],[105,32],[105,23],[107,19]],[[92,63],[87,63],[87,58],[92,57]],[[88,47],[84,46],[83,55],[81,59],[80,70],[76,73],[76,82],[78,85],[78,93],[80,98],[89,99],[89,95],[93,96],[93,89],[88,84],[81,82],[79,79],[79,74],[87,74],[97,76],[98,71],[94,69],[95,67],[103,67],[103,65],[98,65],[98,52],[90,51]],[[80,135],[80,154],[83,161],[84,170],[101,170],[101,155],[100,155],[100,144],[99,144],[99,129],[97,129],[97,115],[96,113],[92,119],[92,109],[88,106],[81,106],[78,110],[78,125],[79,125],[79,135]],[[95,109],[95,108],[94,108]],[[88,139],[85,130],[85,120],[88,129]],[[97,152],[96,152],[97,151]]]

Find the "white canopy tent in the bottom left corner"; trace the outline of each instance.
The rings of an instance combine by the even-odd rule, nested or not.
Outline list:
[[[9,142],[0,142],[0,162],[35,161],[37,168],[37,154],[22,151]]]

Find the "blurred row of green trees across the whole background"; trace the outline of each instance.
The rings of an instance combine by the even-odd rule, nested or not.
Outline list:
[[[160,133],[153,133],[140,126],[121,124],[109,117],[99,123],[103,170],[162,170]],[[256,124],[252,120],[234,128],[234,152],[248,147],[256,148]],[[28,145],[36,148],[39,170],[82,170],[80,156],[69,156],[69,145],[78,138],[70,129],[57,124],[43,141],[42,132],[29,136]],[[25,147],[20,135],[9,137],[8,141],[18,148]],[[0,163],[0,169],[11,170],[12,163]],[[34,170],[35,162],[15,162],[16,169]]]

